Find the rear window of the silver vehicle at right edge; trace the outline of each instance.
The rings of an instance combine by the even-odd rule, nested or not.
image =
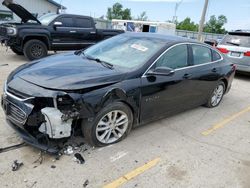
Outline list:
[[[226,35],[220,44],[250,48],[250,36]]]

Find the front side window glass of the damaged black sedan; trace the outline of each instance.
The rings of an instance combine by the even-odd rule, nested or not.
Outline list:
[[[188,66],[187,45],[178,45],[173,47],[156,62],[156,67],[178,69],[186,66]]]

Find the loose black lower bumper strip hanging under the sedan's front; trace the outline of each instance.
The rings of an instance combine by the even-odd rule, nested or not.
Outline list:
[[[8,119],[6,121],[19,134],[19,136],[24,140],[24,142],[26,142],[27,144],[32,145],[35,148],[38,148],[38,149],[43,150],[43,151],[50,153],[50,154],[57,155],[60,152],[59,149],[56,149],[54,147],[50,147],[50,146],[42,144],[42,143],[39,143],[38,140],[35,137],[33,137],[24,128],[21,128],[21,127],[15,125],[14,123],[9,121]]]

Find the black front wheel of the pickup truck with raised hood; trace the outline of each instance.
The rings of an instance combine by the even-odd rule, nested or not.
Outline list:
[[[29,40],[24,45],[24,55],[30,61],[41,59],[48,54],[48,48],[44,42],[40,40]]]

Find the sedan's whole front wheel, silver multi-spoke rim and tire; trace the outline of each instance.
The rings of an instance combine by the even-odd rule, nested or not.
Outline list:
[[[104,107],[93,122],[82,122],[82,132],[86,141],[93,146],[107,146],[123,140],[133,125],[130,108],[121,102]]]

